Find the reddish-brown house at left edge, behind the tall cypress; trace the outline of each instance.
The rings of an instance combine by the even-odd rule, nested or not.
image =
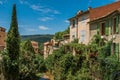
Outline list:
[[[0,51],[2,51],[5,48],[5,38],[6,38],[5,28],[0,27]]]

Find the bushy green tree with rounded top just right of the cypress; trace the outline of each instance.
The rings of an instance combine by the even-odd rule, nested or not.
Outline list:
[[[45,70],[44,59],[35,54],[30,40],[21,43],[20,80],[33,80]]]

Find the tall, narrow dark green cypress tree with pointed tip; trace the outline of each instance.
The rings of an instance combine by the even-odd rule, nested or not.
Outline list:
[[[6,48],[10,59],[8,71],[8,80],[19,79],[19,53],[20,53],[20,35],[18,31],[16,5],[13,5],[12,19],[10,29],[7,34]]]

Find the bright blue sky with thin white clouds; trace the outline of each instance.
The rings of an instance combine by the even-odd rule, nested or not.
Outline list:
[[[96,8],[117,0],[0,0],[0,26],[10,28],[13,4],[17,6],[21,35],[54,34],[69,26],[79,10]]]

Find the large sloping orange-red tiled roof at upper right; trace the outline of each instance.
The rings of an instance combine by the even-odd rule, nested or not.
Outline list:
[[[90,21],[99,19],[120,8],[120,1],[90,10]]]

